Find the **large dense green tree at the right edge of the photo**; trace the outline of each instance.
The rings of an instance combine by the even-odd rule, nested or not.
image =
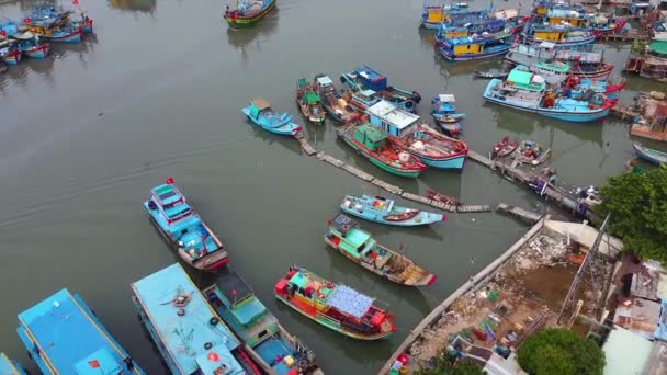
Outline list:
[[[612,214],[609,230],[624,249],[667,264],[667,170],[612,177],[600,194],[600,212]]]

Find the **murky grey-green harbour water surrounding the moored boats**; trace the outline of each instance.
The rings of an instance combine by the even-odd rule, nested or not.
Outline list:
[[[144,368],[163,372],[128,285],[176,261],[140,205],[168,175],[226,242],[231,265],[330,374],[376,372],[433,306],[522,235],[524,226],[496,214],[450,215],[423,229],[363,223],[382,243],[403,243],[438,273],[438,283],[423,291],[388,284],[328,250],[323,230],[342,195],[377,189],[303,156],[292,139],[257,130],[240,113],[259,95],[296,113],[301,76],[337,78],[365,63],[392,84],[418,90],[425,102],[453,92],[467,113],[464,135],[474,150],[486,152],[505,135],[538,140],[553,149],[554,167],[574,184],[600,184],[631,157],[628,127],[613,120],[567,124],[483,104],[487,82],[471,72],[497,63],[442,61],[432,34],[418,29],[417,0],[281,0],[260,27],[244,32],[222,23],[219,1],[80,4],[95,21],[94,36],[54,46],[48,59],[0,76],[0,350],[30,368],[15,316],[67,286]],[[0,15],[19,18],[22,8],[30,1],[2,5]],[[610,45],[608,57],[622,64],[628,52]],[[660,88],[634,78],[623,101]],[[430,170],[406,181],[350,152],[330,123],[307,133],[318,149],[406,191],[429,186],[464,202],[544,209],[529,191],[473,162],[461,173]],[[399,332],[357,342],[278,305],[272,287],[292,262],[388,302]]]

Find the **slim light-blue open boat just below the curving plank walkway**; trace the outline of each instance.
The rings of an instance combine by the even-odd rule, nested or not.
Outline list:
[[[446,219],[446,216],[442,214],[396,206],[393,200],[365,194],[362,196],[346,195],[340,204],[340,209],[369,221],[402,227],[430,225]]]

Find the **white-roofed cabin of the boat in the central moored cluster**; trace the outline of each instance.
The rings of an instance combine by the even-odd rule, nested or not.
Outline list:
[[[402,111],[384,100],[369,107],[366,113],[370,115],[370,122],[373,126],[382,128],[396,138],[412,135],[419,122],[418,115]]]

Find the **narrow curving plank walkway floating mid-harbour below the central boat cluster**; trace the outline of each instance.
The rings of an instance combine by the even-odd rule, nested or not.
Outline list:
[[[423,205],[431,206],[431,207],[442,209],[442,211],[446,211],[450,213],[487,213],[487,212],[493,211],[491,207],[488,205],[454,206],[454,205],[444,204],[442,202],[433,201],[426,196],[404,192],[403,189],[400,189],[396,185],[392,185],[391,183],[383,181],[370,173],[366,173],[354,166],[350,166],[350,164],[346,163],[344,161],[336,159],[335,157],[327,155],[325,152],[318,152],[317,149],[315,149],[315,147],[313,147],[310,145],[310,143],[308,143],[308,139],[301,133],[298,133],[296,135],[296,140],[298,140],[298,144],[299,144],[302,150],[306,155],[308,155],[308,156],[315,155],[317,159],[319,159],[324,162],[327,162],[338,169],[341,169],[363,181],[370,182],[370,183],[374,184],[375,186],[377,186],[382,190],[385,190],[392,194],[399,195],[400,197],[403,197],[405,200],[421,203]]]

